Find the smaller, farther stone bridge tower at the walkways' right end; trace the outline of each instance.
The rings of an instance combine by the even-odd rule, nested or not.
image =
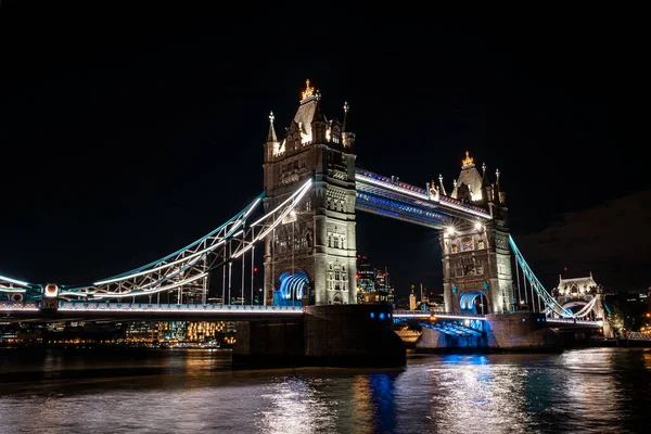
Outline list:
[[[443,186],[434,189],[447,195]],[[433,182],[434,183],[434,182]],[[443,289],[446,311],[455,314],[503,314],[513,309],[513,276],[507,221],[506,193],[500,190],[499,170],[488,181],[465,152],[461,173],[450,197],[487,209],[487,221],[452,220],[442,229]]]

